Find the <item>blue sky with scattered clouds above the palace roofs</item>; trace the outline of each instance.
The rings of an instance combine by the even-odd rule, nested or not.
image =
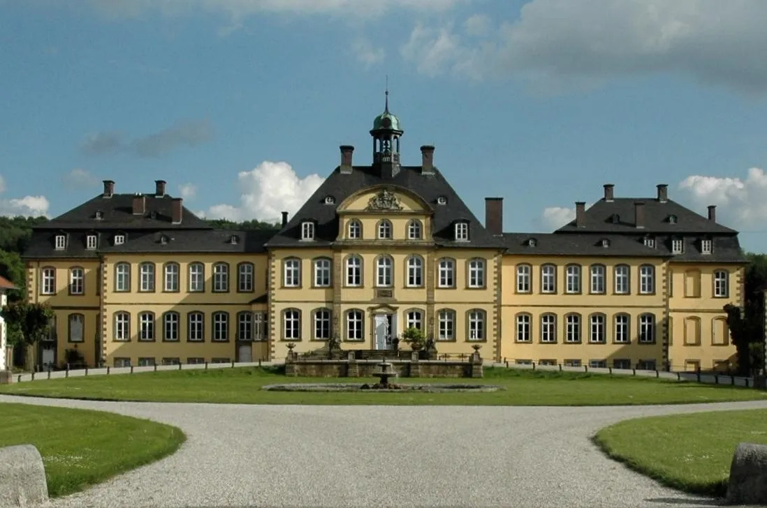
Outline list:
[[[400,117],[480,220],[670,198],[767,252],[764,0],[0,0],[0,215],[168,192],[278,221]]]

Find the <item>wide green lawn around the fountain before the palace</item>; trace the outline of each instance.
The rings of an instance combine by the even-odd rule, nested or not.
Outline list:
[[[97,375],[3,385],[0,393],[100,400],[322,405],[639,405],[767,399],[765,392],[725,385],[591,373],[485,369],[484,379],[402,379],[502,385],[491,393],[265,392],[285,382],[363,382],[372,379],[295,378],[275,368],[194,369]]]

